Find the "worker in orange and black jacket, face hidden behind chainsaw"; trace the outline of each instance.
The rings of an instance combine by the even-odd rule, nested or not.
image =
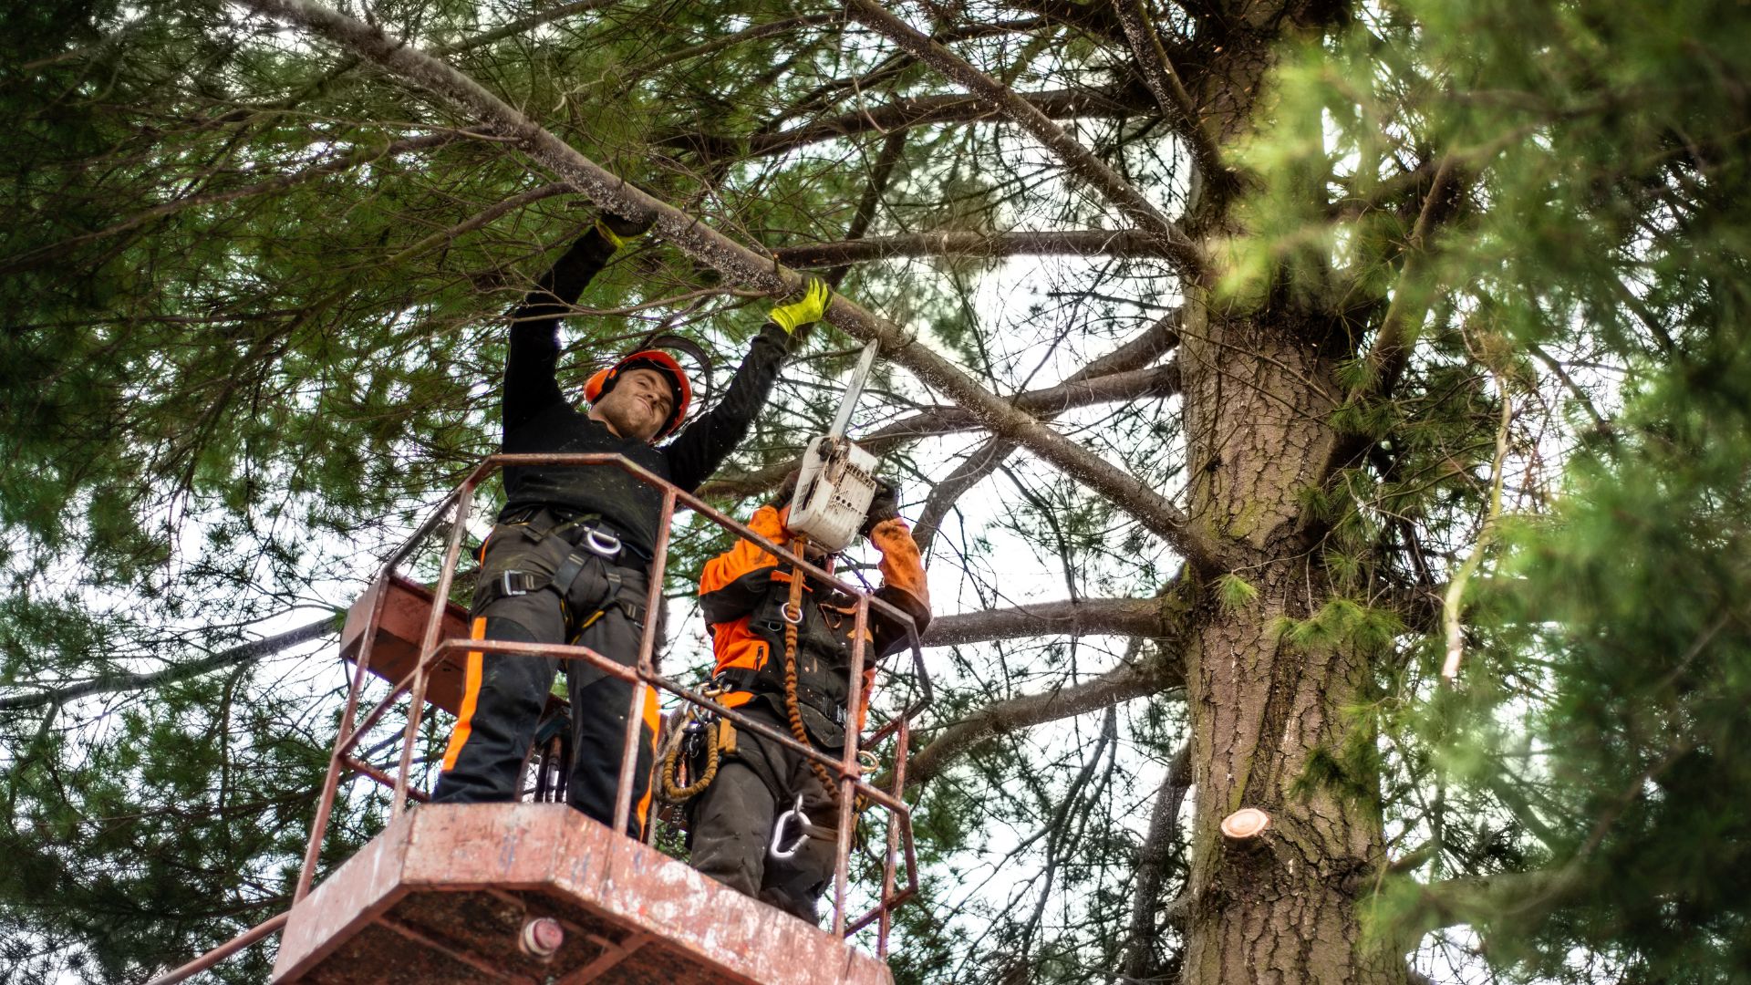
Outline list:
[[[790,505],[781,501],[762,507],[748,526],[776,543],[790,543],[788,515]],[[898,515],[891,485],[877,492],[861,533],[881,550],[877,598],[911,615],[923,633],[930,622],[930,591],[918,543]],[[748,540],[706,563],[699,580],[699,603],[716,654],[713,680],[725,689],[720,701],[781,733],[795,731],[784,673],[790,587],[790,564]],[[905,626],[870,608],[863,699],[856,713],[847,715],[854,599],[832,585],[805,580],[800,610],[790,610],[793,619],[800,615],[795,712],[811,743],[839,755],[846,727],[863,727],[876,661],[905,647]],[[772,859],[767,855],[772,824],[779,811],[795,806],[798,794],[809,822],[825,831],[805,838],[790,859]],[[805,757],[739,729],[735,752],[725,754],[711,785],[688,801],[692,862],[725,885],[816,922],[816,904],[833,878],[837,820],[833,799]],[[795,829],[786,831],[786,838],[791,834]]]

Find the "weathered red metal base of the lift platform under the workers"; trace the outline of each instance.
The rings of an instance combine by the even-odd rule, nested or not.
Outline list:
[[[550,960],[529,920],[566,931]],[[424,804],[299,901],[273,981],[844,981],[888,966],[566,804]]]

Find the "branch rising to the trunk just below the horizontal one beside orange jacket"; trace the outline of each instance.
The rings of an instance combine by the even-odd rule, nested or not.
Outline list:
[[[1161,605],[1159,599],[1149,601],[1156,606]],[[932,629],[935,627],[937,622],[932,622]],[[947,726],[937,733],[930,745],[912,754],[905,764],[905,782],[916,787],[932,780],[954,759],[989,738],[1108,708],[1119,701],[1178,687],[1184,682],[1185,671],[1177,659],[1157,659],[1149,664],[1121,664],[1084,684],[986,705],[974,715]]]

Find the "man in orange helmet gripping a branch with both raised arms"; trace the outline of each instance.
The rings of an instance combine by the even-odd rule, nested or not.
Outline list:
[[[772,308],[723,400],[672,442],[692,386],[669,354],[644,351],[590,377],[587,412],[555,380],[559,321],[615,251],[648,223],[602,216],[541,277],[511,315],[504,363],[504,450],[613,452],[681,489],[693,491],[748,435],[765,405],[798,330],[819,321],[832,293],[811,279],[800,300]],[[613,464],[515,466],[504,470],[506,505],[482,547],[471,610],[475,640],[574,643],[623,664],[637,661],[662,492]],[[660,615],[660,613],[658,613]],[[559,661],[503,654],[468,655],[462,710],[432,799],[511,801],[522,764],[553,685]],[[566,801],[613,824],[615,789],[632,685],[573,663],[573,766]],[[627,833],[644,829],[648,775],[655,754],[657,698],[646,692],[644,741],[634,769]]]

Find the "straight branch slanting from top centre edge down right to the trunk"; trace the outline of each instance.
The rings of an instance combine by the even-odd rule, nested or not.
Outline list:
[[[1205,272],[1205,258],[1198,249],[1198,244],[1187,238],[1185,233],[1173,224],[1171,219],[1163,216],[1152,202],[1131,186],[1131,182],[1119,177],[1119,174],[1108,168],[1105,161],[1065,133],[1063,128],[1052,123],[1051,117],[1040,112],[1038,107],[1016,95],[1009,86],[974,68],[947,47],[919,33],[900,18],[895,18],[874,0],[851,0],[846,4],[846,12],[867,25],[870,30],[886,35],[902,49],[912,53],[912,56],[919,61],[942,72],[975,96],[991,100],[991,103],[995,103],[1003,116],[1014,119],[1028,133],[1033,133],[1035,138],[1045,144],[1049,151],[1058,154],[1072,174],[1100,189],[1100,193],[1105,195],[1108,202],[1117,205],[1119,210],[1131,219],[1131,223],[1149,233],[1154,233],[1161,240],[1163,247],[1171,252],[1171,259],[1182,277],[1187,280],[1198,280],[1201,277]]]

